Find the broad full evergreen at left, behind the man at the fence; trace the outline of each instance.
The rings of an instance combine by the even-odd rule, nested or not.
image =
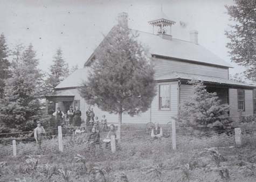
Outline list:
[[[0,117],[8,128],[31,130],[34,127],[33,120],[40,117],[42,74],[31,44],[19,59],[13,61],[12,77],[6,81]]]

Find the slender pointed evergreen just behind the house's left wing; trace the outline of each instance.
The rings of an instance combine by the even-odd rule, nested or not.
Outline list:
[[[69,74],[68,64],[63,59],[63,53],[60,48],[53,58],[53,65],[50,66],[49,78],[46,80],[46,93],[53,92],[54,87],[63,81]]]

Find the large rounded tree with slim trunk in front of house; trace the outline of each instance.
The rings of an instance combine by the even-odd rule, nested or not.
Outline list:
[[[137,36],[125,24],[113,27],[95,51],[92,72],[81,88],[88,104],[119,115],[119,139],[122,113],[147,111],[156,93],[154,69]]]

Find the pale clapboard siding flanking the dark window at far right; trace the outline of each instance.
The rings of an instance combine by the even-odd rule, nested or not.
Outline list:
[[[242,115],[253,115],[253,91],[245,89],[245,111],[242,111]],[[240,112],[238,111],[238,97],[237,89],[229,89],[229,103],[230,103],[230,116],[232,120],[239,121]]]

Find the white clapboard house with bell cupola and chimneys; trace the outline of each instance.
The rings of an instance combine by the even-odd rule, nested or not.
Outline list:
[[[119,22],[127,23],[127,13],[120,13]],[[169,20],[162,12],[160,17],[149,22],[153,33],[137,30],[138,41],[149,48],[151,63],[155,68],[157,95],[151,103],[151,108],[139,116],[130,117],[124,114],[123,122],[160,122],[167,123],[172,116],[178,114],[179,106],[188,100],[192,86],[187,82],[191,79],[204,81],[209,92],[217,92],[223,103],[230,105],[230,116],[237,120],[239,113],[253,115],[255,110],[255,86],[232,81],[229,79],[229,68],[232,66],[217,55],[198,44],[198,32],[190,32],[190,41],[172,38],[171,26],[175,22]],[[154,32],[157,30],[156,32]],[[94,53],[78,69],[56,88],[56,95],[46,96],[47,100],[56,103],[64,112],[70,106],[78,106],[85,119],[87,104],[80,96],[78,88],[82,81],[87,80]],[[115,114],[108,114],[94,107],[96,116],[106,115],[108,121],[117,122]]]

